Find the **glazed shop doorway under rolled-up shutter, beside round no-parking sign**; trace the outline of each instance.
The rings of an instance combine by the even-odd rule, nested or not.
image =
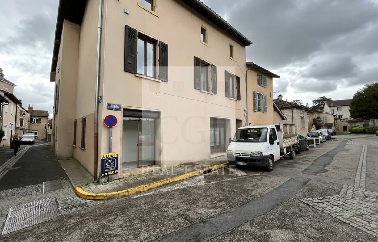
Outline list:
[[[125,119],[122,130],[122,171],[155,165],[155,119]]]

